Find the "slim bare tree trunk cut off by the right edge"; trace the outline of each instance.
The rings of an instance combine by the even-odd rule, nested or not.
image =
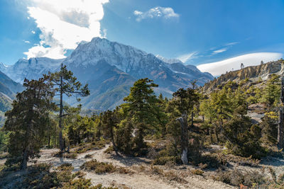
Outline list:
[[[284,131],[283,131],[283,125],[284,125],[284,111],[283,111],[283,105],[284,105],[284,76],[282,77],[281,81],[281,96],[280,96],[280,115],[279,115],[279,125],[278,125],[278,148],[283,149],[284,147]]]

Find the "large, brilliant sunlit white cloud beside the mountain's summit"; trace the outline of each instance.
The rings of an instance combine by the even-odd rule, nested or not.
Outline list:
[[[100,21],[109,0],[31,0],[28,13],[40,29],[40,44],[24,54],[30,57],[65,57],[82,40],[105,37]],[[35,33],[32,31],[32,33]]]

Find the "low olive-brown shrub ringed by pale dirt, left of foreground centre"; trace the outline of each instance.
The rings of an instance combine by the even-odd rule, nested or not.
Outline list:
[[[113,173],[114,171],[116,171],[116,168],[114,167],[113,164],[99,162],[96,159],[85,162],[81,166],[81,168],[84,168],[84,170],[87,171],[94,171],[97,174]]]

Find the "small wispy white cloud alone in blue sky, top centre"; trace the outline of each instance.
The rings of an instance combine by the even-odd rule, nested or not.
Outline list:
[[[155,8],[151,8],[150,10],[146,12],[141,11],[134,11],[133,14],[137,17],[136,21],[142,21],[146,18],[164,18],[164,19],[170,19],[170,18],[179,18],[180,15],[178,13],[175,13],[173,8],[170,7],[161,7],[157,6]]]

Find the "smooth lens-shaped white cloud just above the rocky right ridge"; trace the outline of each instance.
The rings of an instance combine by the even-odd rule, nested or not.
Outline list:
[[[197,66],[201,71],[206,71],[213,76],[220,76],[225,74],[226,71],[240,69],[241,63],[244,63],[245,67],[256,66],[263,62],[270,62],[283,57],[283,54],[276,52],[256,52],[246,55],[241,55],[239,57],[233,57],[229,59],[224,59],[219,62],[212,62],[208,64],[200,64]]]

